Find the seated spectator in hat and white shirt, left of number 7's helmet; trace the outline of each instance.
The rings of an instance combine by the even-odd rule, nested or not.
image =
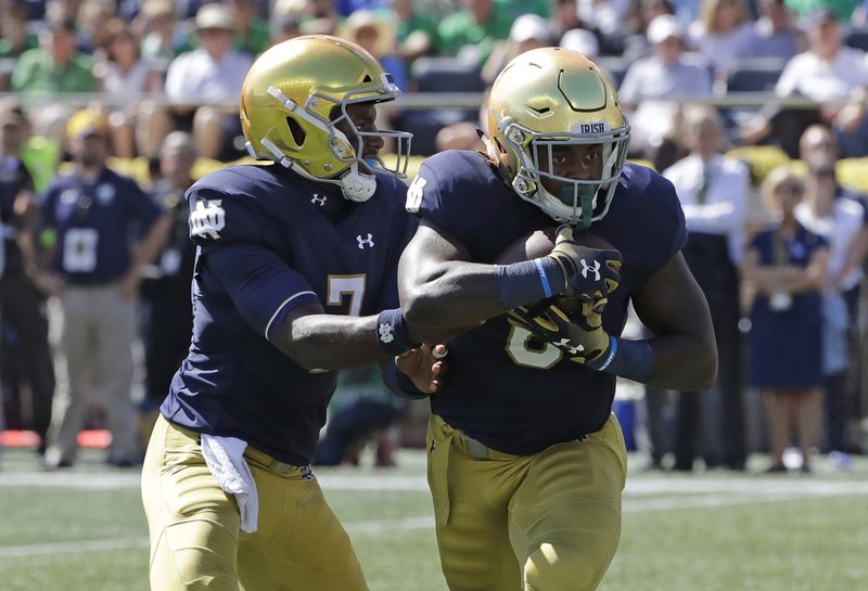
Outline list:
[[[241,134],[238,99],[253,59],[232,49],[234,23],[227,7],[205,4],[195,27],[201,47],[178,55],[166,74],[166,97],[177,103],[169,113],[174,125],[166,125],[167,113],[158,108],[151,125],[159,125],[165,134],[192,130],[200,155],[233,159],[241,155],[232,145]]]

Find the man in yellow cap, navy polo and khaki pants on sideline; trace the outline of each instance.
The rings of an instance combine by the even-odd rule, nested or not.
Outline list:
[[[108,463],[141,461],[130,389],[138,339],[141,269],[166,240],[169,221],[135,180],[105,166],[108,128],[95,111],[76,112],[66,127],[69,174],[42,195],[38,231],[50,270],[40,281],[58,296],[50,307],[55,391],[44,467],[71,466],[99,377],[107,428]],[[140,240],[136,240],[137,236]]]

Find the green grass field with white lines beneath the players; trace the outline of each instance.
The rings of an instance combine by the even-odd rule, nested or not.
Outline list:
[[[3,451],[0,589],[148,591],[138,473],[100,458],[86,451],[75,468],[47,474],[33,451]],[[371,591],[445,591],[424,455],[397,458],[397,468],[316,472]],[[845,473],[815,466],[810,476],[633,468],[621,548],[600,590],[865,591],[868,460]]]

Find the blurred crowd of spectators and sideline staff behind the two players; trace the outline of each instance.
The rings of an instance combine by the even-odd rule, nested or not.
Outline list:
[[[384,127],[414,132],[418,157],[482,149],[478,104],[519,53],[561,46],[595,60],[626,106],[630,157],[669,178],[688,228],[714,239],[686,257],[712,306],[718,386],[624,387],[641,409],[630,426],[648,467],[744,470],[751,451],[767,450],[780,470],[795,448],[807,472],[809,454],[846,467],[866,451],[868,202],[841,172],[868,156],[868,1],[0,0],[2,402],[7,429],[35,432],[47,467],[61,467],[52,438],[68,445],[87,427],[112,432],[110,463],[140,462],[190,342],[183,192],[245,157],[246,70],[305,34],[344,37],[381,60],[406,93],[383,111]],[[112,268],[94,262],[103,234],[99,246],[97,234],[56,240],[58,216],[93,215],[133,185],[154,208],[111,208],[95,223],[112,229]],[[782,200],[784,189],[799,198]],[[812,258],[803,247],[814,242],[790,234],[777,250],[756,242],[796,218],[828,255]],[[817,298],[795,307],[799,318],[816,322],[790,341],[812,345],[784,351],[769,324],[782,317],[756,301],[805,292]],[[773,311],[794,313],[801,299],[780,297]],[[757,369],[802,355],[821,358],[812,387]],[[357,465],[373,441],[376,464],[391,465],[396,446],[423,445],[424,402],[392,398],[376,371],[342,378],[332,410],[323,464]]]

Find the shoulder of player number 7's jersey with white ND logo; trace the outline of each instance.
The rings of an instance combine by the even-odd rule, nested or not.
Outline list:
[[[204,176],[188,189],[190,239],[195,244],[263,241],[268,223],[268,200],[263,197],[273,191],[273,187],[268,183],[268,175],[263,175],[258,168],[224,168]]]

